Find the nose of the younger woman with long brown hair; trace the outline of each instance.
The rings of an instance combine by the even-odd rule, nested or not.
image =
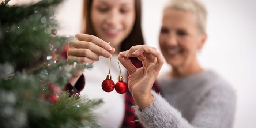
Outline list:
[[[111,11],[109,11],[108,17],[106,18],[106,23],[110,26],[114,26],[118,23],[119,18],[120,16],[118,14],[118,11],[112,9]]]

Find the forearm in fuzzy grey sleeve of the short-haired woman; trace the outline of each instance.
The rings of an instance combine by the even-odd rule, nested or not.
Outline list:
[[[154,101],[145,109],[135,106],[139,122],[146,128],[193,128],[180,112],[152,91]]]

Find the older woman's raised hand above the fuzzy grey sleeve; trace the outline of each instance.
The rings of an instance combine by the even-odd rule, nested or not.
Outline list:
[[[137,57],[142,61],[143,67],[136,68],[129,57]],[[137,45],[120,52],[118,60],[128,71],[128,87],[134,101],[140,108],[146,108],[153,102],[151,89],[163,65],[163,57],[154,47]]]

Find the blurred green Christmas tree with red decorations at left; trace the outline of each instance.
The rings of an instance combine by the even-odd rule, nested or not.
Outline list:
[[[0,4],[0,127],[99,127],[90,100],[61,91],[72,72],[91,65],[67,62],[68,37],[56,35],[54,7],[61,0],[33,5]]]

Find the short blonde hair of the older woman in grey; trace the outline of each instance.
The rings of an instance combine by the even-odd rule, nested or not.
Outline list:
[[[175,9],[192,12],[197,16],[199,30],[206,33],[207,10],[203,3],[198,0],[170,0],[165,5],[164,10]]]

